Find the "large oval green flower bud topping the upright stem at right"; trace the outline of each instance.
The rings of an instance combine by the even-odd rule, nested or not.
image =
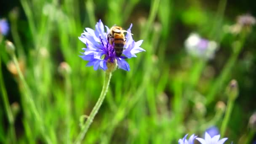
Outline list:
[[[232,101],[235,101],[237,99],[239,90],[238,90],[238,84],[236,80],[231,80],[228,87],[227,87],[227,95],[229,99]]]

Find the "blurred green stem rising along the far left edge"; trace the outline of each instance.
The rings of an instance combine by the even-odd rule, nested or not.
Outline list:
[[[4,81],[3,81],[1,58],[0,58],[0,85],[1,85],[1,93],[3,96],[3,102],[4,102],[6,114],[8,117],[8,121],[10,123],[11,139],[12,139],[12,142],[15,144],[16,134],[14,129],[14,118],[13,118],[13,113],[11,112],[10,103],[8,100],[7,92],[6,92]]]

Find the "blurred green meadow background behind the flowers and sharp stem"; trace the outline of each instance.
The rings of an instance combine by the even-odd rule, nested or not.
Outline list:
[[[0,44],[0,142],[75,141],[104,76],[85,67],[79,57],[85,44],[78,37],[101,19],[108,27],[127,29],[132,23],[133,39],[144,40],[146,52],[127,60],[130,72],[113,73],[83,143],[175,144],[187,133],[202,136],[213,125],[223,126],[229,82],[235,79],[239,94],[221,136],[228,144],[251,144],[256,31],[248,26],[229,32],[246,13],[256,16],[254,0],[1,0],[0,18],[8,20],[10,31]],[[186,52],[184,41],[192,32],[218,43],[213,59]],[[24,80],[5,40],[16,47]],[[68,66],[60,66],[62,61]]]

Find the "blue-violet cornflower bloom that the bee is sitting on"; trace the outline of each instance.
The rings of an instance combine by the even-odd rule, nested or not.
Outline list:
[[[143,40],[135,42],[131,34],[131,26],[127,29],[127,34],[125,35],[126,43],[124,45],[123,55],[116,56],[114,43],[110,44],[107,40],[107,35],[109,34],[109,27],[105,26],[99,20],[95,26],[95,30],[91,28],[85,28],[85,31],[78,37],[83,43],[86,44],[87,48],[82,48],[82,56],[80,56],[85,61],[89,61],[86,66],[93,66],[94,70],[97,70],[99,67],[104,71],[107,70],[109,64],[117,63],[117,67],[120,69],[130,71],[129,64],[125,59],[130,59],[136,57],[136,53],[145,51],[141,48]]]

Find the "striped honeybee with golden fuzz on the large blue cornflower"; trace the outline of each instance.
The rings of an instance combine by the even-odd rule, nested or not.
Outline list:
[[[113,26],[110,29],[110,32],[107,36],[107,40],[112,45],[114,43],[115,48],[115,54],[116,56],[121,56],[123,53],[124,45],[126,42],[126,37],[124,35],[124,32],[127,32],[126,30],[123,30],[122,27],[119,26]]]

